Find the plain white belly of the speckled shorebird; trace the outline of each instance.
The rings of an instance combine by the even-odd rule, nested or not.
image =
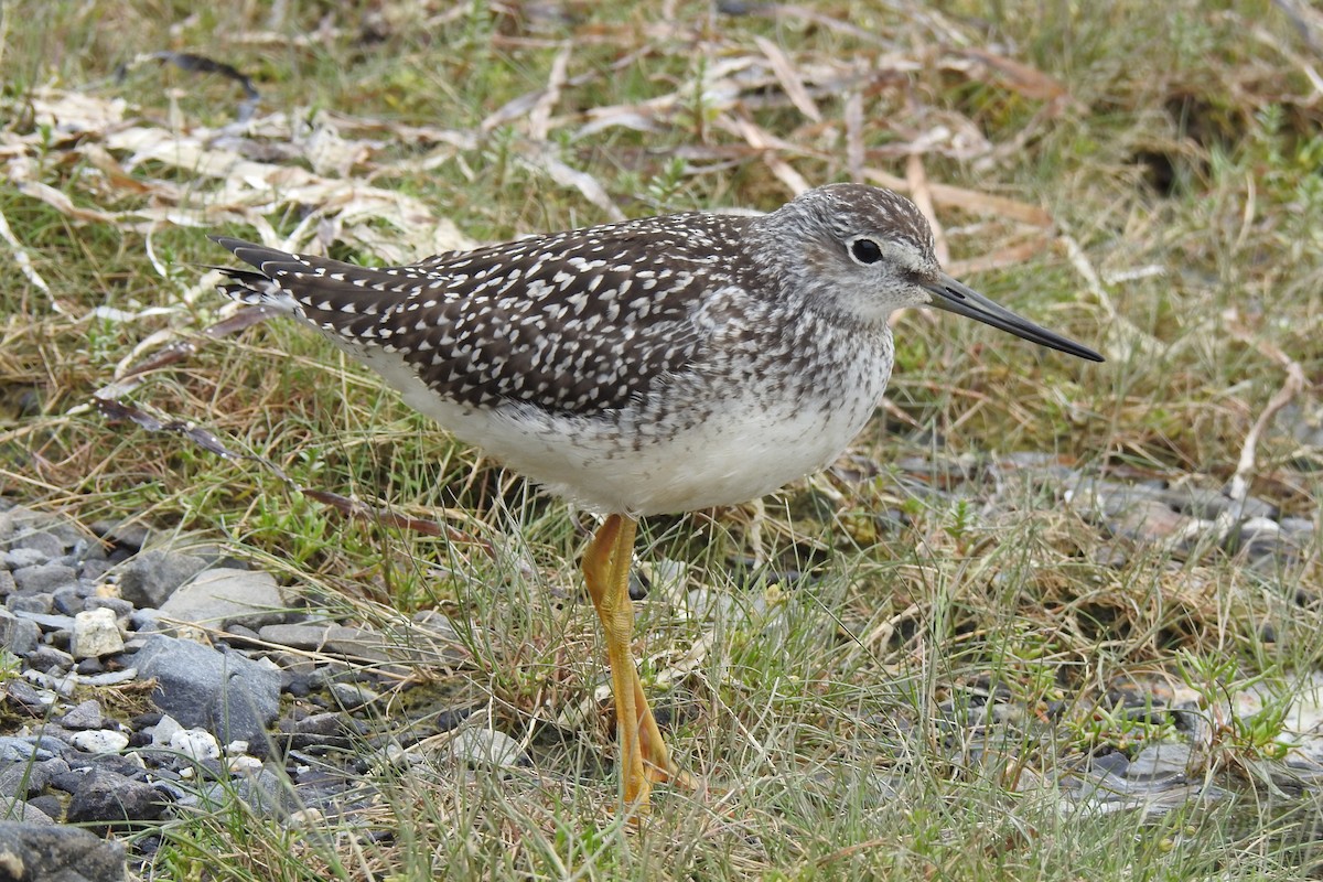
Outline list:
[[[585,417],[468,407],[380,350],[359,354],[406,403],[515,472],[589,509],[634,516],[746,502],[830,464],[868,422],[890,368],[856,362],[807,401],[769,386],[695,394],[660,414]]]

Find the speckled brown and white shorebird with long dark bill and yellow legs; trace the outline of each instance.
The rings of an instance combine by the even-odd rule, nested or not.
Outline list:
[[[218,288],[288,313],[508,469],[602,516],[582,555],[617,717],[618,799],[692,784],[648,705],[628,591],[638,520],[744,504],[860,434],[888,319],[935,307],[1101,362],[942,271],[904,196],[827,184],[761,216],[688,212],[364,267],[213,235]],[[251,268],[249,268],[251,267]]]

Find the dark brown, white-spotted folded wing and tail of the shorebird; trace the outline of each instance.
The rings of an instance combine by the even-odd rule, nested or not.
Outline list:
[[[368,268],[216,237],[255,267],[232,298],[292,312],[351,349],[396,353],[456,403],[622,407],[699,354],[696,311],[736,284],[745,218],[647,218]],[[726,257],[718,257],[726,255]]]

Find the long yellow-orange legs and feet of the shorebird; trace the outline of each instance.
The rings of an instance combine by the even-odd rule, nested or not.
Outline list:
[[[630,563],[638,521],[611,514],[598,528],[583,554],[583,581],[597,607],[606,635],[606,659],[611,666],[615,697],[617,738],[620,750],[620,784],[626,804],[647,811],[654,783],[689,778],[671,760],[652,709],[643,694],[634,666],[634,602],[630,600]]]

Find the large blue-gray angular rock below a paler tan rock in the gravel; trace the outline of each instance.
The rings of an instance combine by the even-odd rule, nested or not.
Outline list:
[[[181,725],[205,727],[222,742],[266,744],[280,701],[280,672],[270,662],[153,633],[135,664],[140,676],[156,678],[156,706]]]

